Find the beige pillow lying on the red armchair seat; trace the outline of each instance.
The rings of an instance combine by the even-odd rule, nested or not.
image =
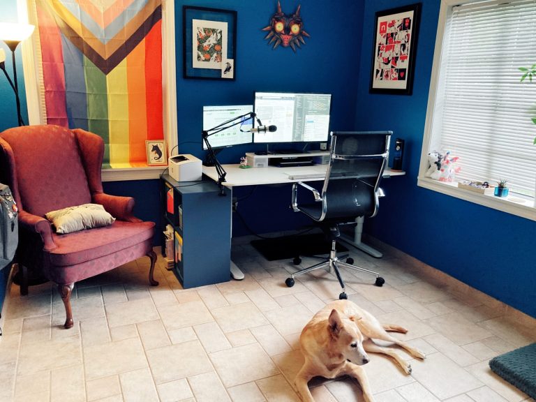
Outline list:
[[[111,225],[115,218],[108,214],[101,204],[84,204],[77,207],[58,209],[45,214],[54,224],[56,232],[66,234],[78,230]]]

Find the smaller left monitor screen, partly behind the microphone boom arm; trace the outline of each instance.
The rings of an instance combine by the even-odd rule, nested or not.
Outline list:
[[[230,121],[242,114],[253,112],[253,105],[239,105],[239,106],[203,106],[203,130],[210,130],[225,121]],[[230,121],[229,125],[238,123],[237,121]],[[226,125],[223,124],[222,127]],[[251,143],[252,134],[247,132],[253,128],[253,119],[251,117],[243,117],[239,124],[226,128],[225,130],[216,133],[217,130],[209,133],[208,137],[212,148],[230,147],[237,144]],[[244,133],[246,131],[246,133]],[[203,141],[203,149],[207,149],[207,144]]]

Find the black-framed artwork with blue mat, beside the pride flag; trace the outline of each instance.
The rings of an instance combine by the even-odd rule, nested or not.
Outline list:
[[[182,7],[184,78],[234,80],[237,12]]]

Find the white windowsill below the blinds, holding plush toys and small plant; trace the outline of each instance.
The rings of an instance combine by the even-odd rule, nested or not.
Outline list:
[[[512,199],[521,199],[522,196],[509,195],[508,197],[500,198],[491,194],[474,193],[472,191],[463,190],[463,188],[458,188],[457,183],[445,183],[444,181],[437,181],[430,179],[429,177],[419,177],[417,179],[417,186],[460,198],[461,200],[474,202],[475,204],[484,205],[484,207],[507,212],[507,214],[521,216],[536,221],[535,202],[532,198],[526,198],[525,202],[514,202]]]

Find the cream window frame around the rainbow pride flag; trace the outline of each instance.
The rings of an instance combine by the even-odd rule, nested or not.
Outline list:
[[[19,22],[29,23],[28,0],[17,0]],[[164,139],[168,144],[168,153],[177,147],[177,79],[175,74],[175,11],[173,0],[162,0],[162,93],[163,93],[163,127]],[[22,68],[26,86],[28,119],[30,124],[45,124],[41,112],[36,58],[34,57],[33,36],[22,42]],[[158,179],[165,167],[148,166],[147,168],[103,169],[103,181]]]

